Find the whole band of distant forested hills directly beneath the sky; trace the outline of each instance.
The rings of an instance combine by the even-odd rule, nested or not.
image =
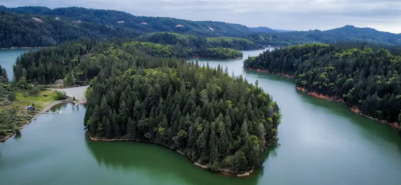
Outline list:
[[[136,38],[151,32],[174,32],[196,36],[227,37],[235,36],[247,39],[219,38],[209,41],[210,47],[225,47],[247,50],[261,46],[290,46],[305,43],[334,43],[336,41],[365,41],[377,44],[401,45],[401,34],[380,32],[372,28],[344,26],[332,30],[310,31],[271,31],[267,27],[248,28],[239,24],[215,21],[191,21],[166,17],[134,16],[115,10],[97,10],[78,7],[50,9],[40,6],[7,8],[0,6],[0,11],[18,14],[2,15],[4,26],[0,34],[0,47],[53,46],[66,40],[81,37],[93,38]],[[29,15],[26,15],[29,14]],[[44,22],[32,21],[40,18]],[[56,20],[56,18],[59,18]],[[72,22],[75,21],[75,22]],[[80,21],[80,23],[78,22]],[[45,23],[45,24],[44,24]],[[14,25],[14,27],[11,27]],[[12,28],[12,29],[11,29]],[[13,30],[13,31],[10,31]],[[263,32],[263,33],[260,33]],[[157,35],[156,35],[157,36]],[[198,39],[198,41],[200,41]],[[224,41],[224,42],[223,42]],[[144,41],[150,42],[150,41]],[[160,43],[163,44],[163,43]],[[204,43],[203,43],[204,44]]]

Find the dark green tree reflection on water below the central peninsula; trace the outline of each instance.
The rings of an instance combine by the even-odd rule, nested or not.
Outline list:
[[[154,175],[183,178],[187,184],[257,184],[263,176],[263,167],[257,168],[250,177],[237,178],[229,175],[219,175],[196,167],[190,160],[164,146],[136,141],[101,142],[91,141],[85,137],[85,143],[96,159],[99,167],[123,170],[136,178],[138,173],[146,176]],[[272,147],[265,153],[269,157]]]

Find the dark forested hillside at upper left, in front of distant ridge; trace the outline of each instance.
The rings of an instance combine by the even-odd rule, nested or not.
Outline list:
[[[0,48],[55,46],[81,37],[135,38],[136,30],[89,22],[73,22],[50,16],[0,12]]]

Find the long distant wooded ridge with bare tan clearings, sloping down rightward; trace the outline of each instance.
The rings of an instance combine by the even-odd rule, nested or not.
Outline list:
[[[247,26],[217,21],[191,21],[169,17],[134,16],[116,10],[99,10],[91,8],[67,7],[50,9],[43,6],[24,6],[0,10],[20,14],[36,14],[81,20],[110,27],[133,29],[140,33],[177,32],[201,36],[239,36],[251,33]],[[142,23],[142,24],[141,24]]]

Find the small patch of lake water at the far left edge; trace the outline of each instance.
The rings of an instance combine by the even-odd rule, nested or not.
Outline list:
[[[8,79],[11,81],[14,77],[12,72],[12,65],[15,64],[15,59],[24,52],[32,49],[18,48],[18,49],[0,49],[0,64],[7,71]]]

